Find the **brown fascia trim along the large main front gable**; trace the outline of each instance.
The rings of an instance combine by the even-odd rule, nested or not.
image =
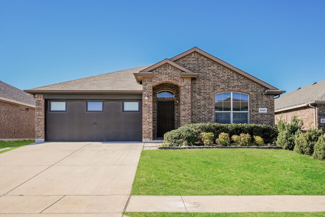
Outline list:
[[[230,65],[229,63],[227,63],[227,62],[225,62],[225,61],[223,61],[223,60],[221,60],[221,59],[219,59],[219,58],[217,58],[217,57],[215,57],[215,56],[213,56],[213,55],[211,55],[211,54],[209,54],[209,53],[207,53],[207,52],[205,52],[205,51],[203,51],[203,50],[201,50],[201,49],[199,49],[197,47],[193,47],[193,48],[191,48],[191,49],[189,49],[189,50],[187,50],[185,52],[182,52],[182,53],[170,58],[170,60],[175,61],[175,60],[177,60],[177,59],[179,59],[179,58],[181,58],[181,57],[183,57],[185,55],[188,55],[189,53],[192,53],[194,51],[196,51],[199,54],[201,54],[201,55],[203,55],[203,56],[205,56],[205,57],[207,57],[207,58],[209,58],[209,59],[211,59],[211,60],[213,60],[213,61],[215,61],[215,62],[217,62],[217,63],[219,63],[219,64],[221,64],[221,65],[223,65],[223,66],[225,66],[225,67],[227,67],[227,68],[229,68],[229,69],[231,69],[231,70],[233,70],[233,71],[235,71],[235,72],[237,72],[237,73],[239,73],[239,74],[241,74],[241,75],[243,75],[245,77],[247,77],[248,79],[250,79],[250,80],[252,80],[252,81],[254,81],[254,82],[256,82],[256,83],[258,83],[258,84],[260,84],[260,85],[262,85],[262,86],[264,86],[266,88],[268,88],[268,89],[278,89],[278,88],[276,88],[276,87],[274,87],[274,86],[272,86],[272,85],[258,79],[257,77],[254,77],[253,75],[248,74],[247,72],[244,72],[243,70],[240,70],[239,68],[236,68],[235,66]]]

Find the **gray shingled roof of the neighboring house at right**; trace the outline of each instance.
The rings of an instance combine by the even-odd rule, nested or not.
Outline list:
[[[325,102],[325,80],[288,92],[276,98],[275,110],[315,101]]]

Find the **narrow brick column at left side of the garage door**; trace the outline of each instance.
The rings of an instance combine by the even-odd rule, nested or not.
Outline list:
[[[45,139],[45,100],[42,94],[35,95],[35,142]]]

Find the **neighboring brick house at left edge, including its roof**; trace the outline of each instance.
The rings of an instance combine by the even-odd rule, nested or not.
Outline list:
[[[34,114],[32,95],[0,81],[0,140],[34,139]]]

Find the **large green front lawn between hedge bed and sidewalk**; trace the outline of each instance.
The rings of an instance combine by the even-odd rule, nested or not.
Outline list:
[[[324,195],[325,161],[288,150],[144,150],[132,195]]]

